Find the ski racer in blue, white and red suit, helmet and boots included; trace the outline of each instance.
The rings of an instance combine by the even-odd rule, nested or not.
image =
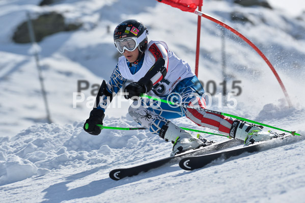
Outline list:
[[[96,124],[103,124],[107,104],[125,82],[130,81],[124,90],[125,98],[134,100],[129,107],[129,114],[151,133],[159,135],[165,141],[172,141],[172,156],[204,145],[201,140],[169,121],[184,116],[199,126],[245,140],[245,143],[252,138],[260,141],[270,137],[269,133],[262,132],[258,126],[224,115],[166,103],[157,104],[157,101],[139,98],[146,93],[183,106],[206,108],[203,87],[187,62],[179,59],[165,42],[148,42],[147,35],[147,27],[137,20],[126,20],[116,27],[114,42],[122,56],[119,57],[108,83],[103,81],[101,84],[96,98],[97,106],[90,112],[84,125],[86,132],[92,135],[101,132]]]

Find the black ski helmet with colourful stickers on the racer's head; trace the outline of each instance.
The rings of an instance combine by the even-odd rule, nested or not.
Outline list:
[[[114,41],[121,41],[127,38],[136,38],[138,50],[145,52],[148,44],[147,35],[149,34],[147,27],[138,20],[130,19],[121,22],[115,29]],[[119,49],[118,49],[119,50]]]

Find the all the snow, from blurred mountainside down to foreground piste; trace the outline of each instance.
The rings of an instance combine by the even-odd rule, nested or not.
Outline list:
[[[82,129],[92,108],[93,85],[108,80],[117,63],[119,55],[112,38],[115,26],[130,18],[143,21],[149,28],[149,39],[167,42],[195,67],[197,16],[153,0],[63,0],[44,7],[38,6],[40,2],[0,1],[0,22],[5,27],[0,31],[1,202],[303,202],[303,136],[195,171],[183,171],[173,164],[118,182],[109,179],[111,169],[168,157],[172,148],[171,143],[147,131],[102,130],[92,136]],[[38,48],[12,42],[26,12],[35,18],[52,11],[64,15],[67,22],[81,22],[81,28],[48,36]],[[222,91],[222,37],[229,76],[227,93],[237,92],[234,81],[240,81],[235,85],[241,88],[240,95],[220,100],[217,94],[207,94],[209,108],[304,135],[304,14],[295,17],[278,9],[207,0],[203,11],[235,27],[266,54],[293,103],[292,107],[287,105],[279,83],[251,47],[203,20],[199,78],[206,92],[213,92],[212,81],[215,91]],[[232,13],[248,21],[232,20]],[[52,124],[45,123],[33,49],[40,50]],[[73,106],[78,80],[90,85],[81,91],[85,100],[75,103],[80,96],[74,98]],[[106,110],[104,125],[136,127],[127,114],[129,102],[118,95],[113,103]],[[173,122],[215,132],[186,118]],[[215,141],[226,139],[205,136]]]

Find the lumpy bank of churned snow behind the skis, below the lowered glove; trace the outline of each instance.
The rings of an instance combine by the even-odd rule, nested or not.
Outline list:
[[[72,164],[124,163],[143,158],[142,151],[153,155],[154,142],[164,142],[145,131],[103,130],[92,136],[83,129],[83,122],[61,126],[37,124],[12,138],[2,137],[0,144],[0,185],[42,176]],[[126,118],[106,119],[107,126],[131,127]],[[169,147],[168,150],[171,148]],[[130,157],[132,153],[138,153]]]

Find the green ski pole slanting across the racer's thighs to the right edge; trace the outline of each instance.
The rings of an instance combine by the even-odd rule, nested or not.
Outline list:
[[[178,102],[175,103],[175,102],[171,102],[171,101],[156,98],[156,97],[151,97],[151,96],[148,96],[148,95],[145,95],[145,94],[142,94],[141,97],[156,100],[156,101],[160,101],[160,102],[171,104],[171,105],[181,106],[181,107],[184,107],[184,108],[192,108],[192,109],[197,109],[197,110],[201,110],[201,111],[205,111],[205,112],[209,112],[209,113],[214,113],[214,114],[218,114],[218,115],[225,115],[227,117],[232,117],[232,118],[239,119],[239,120],[242,120],[242,121],[246,121],[246,122],[249,122],[249,123],[254,123],[254,124],[265,126],[265,127],[272,128],[272,129],[275,129],[275,130],[288,132],[292,135],[299,135],[300,136],[300,134],[296,133],[295,131],[288,131],[288,130],[284,130],[284,129],[281,129],[281,128],[276,128],[274,126],[270,126],[270,125],[267,125],[267,124],[263,124],[263,123],[259,123],[259,122],[252,121],[252,120],[249,120],[249,119],[245,119],[245,118],[242,118],[242,117],[238,117],[237,115],[232,115],[232,114],[229,114],[229,113],[223,113],[223,112],[209,110],[209,109],[195,107],[195,106],[183,105],[183,104],[179,104]]]

